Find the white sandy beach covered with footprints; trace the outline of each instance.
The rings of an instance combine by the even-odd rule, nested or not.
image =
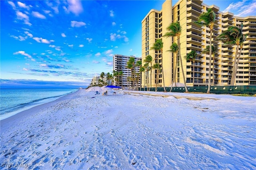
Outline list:
[[[256,169],[256,97],[150,93],[219,100],[82,89],[0,121],[1,169]]]

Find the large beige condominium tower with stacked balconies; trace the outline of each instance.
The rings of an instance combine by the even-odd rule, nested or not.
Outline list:
[[[208,65],[209,55],[202,54],[202,50],[209,45],[210,29],[194,23],[194,21],[198,20],[198,16],[209,8],[216,14],[212,45],[217,47],[217,52],[212,57],[211,68]],[[144,59],[146,56],[151,55],[152,65],[159,63],[163,68],[166,87],[171,86],[174,67],[177,62],[176,54],[168,50],[173,42],[177,43],[177,38],[163,36],[167,32],[167,26],[176,21],[179,21],[182,27],[180,49],[185,80],[188,86],[192,86],[193,63],[186,61],[184,56],[192,50],[197,53],[194,68],[194,86],[208,85],[209,69],[212,70],[212,75],[210,75],[212,85],[230,84],[236,46],[224,45],[222,42],[216,41],[216,38],[228,27],[240,26],[241,24],[244,25],[243,34],[246,34],[247,38],[242,48],[234,85],[256,85],[256,16],[234,16],[230,12],[221,12],[218,6],[208,6],[202,0],[180,0],[174,6],[172,6],[172,0],[166,0],[162,4],[162,10],[152,9],[142,20],[142,66],[145,64]],[[157,39],[162,39],[163,54],[162,57],[155,59],[159,51],[150,50],[150,47],[153,46]],[[183,83],[179,60],[177,64],[176,82]],[[151,79],[147,79],[147,74],[150,77],[150,71],[148,73],[147,71],[142,72],[142,87],[144,84],[147,87],[147,82],[150,80],[151,87],[155,87],[156,69],[152,69]],[[144,76],[146,77],[145,82]],[[158,87],[163,87],[162,73],[159,75]]]

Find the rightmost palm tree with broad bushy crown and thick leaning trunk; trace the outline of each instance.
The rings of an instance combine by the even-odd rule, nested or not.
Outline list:
[[[241,24],[241,26],[239,26],[239,27],[231,26],[228,28],[228,30],[222,32],[222,34],[220,34],[218,36],[218,40],[221,40],[222,42],[224,42],[224,44],[236,45],[236,53],[235,53],[235,57],[234,57],[234,65],[233,65],[233,69],[232,69],[230,85],[234,85],[234,83],[235,83],[236,72],[237,72],[237,68],[238,68],[240,55],[242,52],[242,47],[243,47],[244,41],[246,40],[246,35],[243,35],[243,32],[242,32],[243,27],[244,27],[243,24]],[[239,45],[240,45],[240,52],[238,55]]]

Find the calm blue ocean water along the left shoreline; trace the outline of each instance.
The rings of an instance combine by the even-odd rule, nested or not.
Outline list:
[[[0,120],[31,107],[54,101],[77,89],[1,89]]]

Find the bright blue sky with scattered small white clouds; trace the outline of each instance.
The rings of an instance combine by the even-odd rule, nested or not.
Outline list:
[[[141,57],[141,21],[163,2],[1,0],[1,88],[87,87],[94,75],[112,72],[114,54]],[[256,0],[204,3],[256,15]]]

